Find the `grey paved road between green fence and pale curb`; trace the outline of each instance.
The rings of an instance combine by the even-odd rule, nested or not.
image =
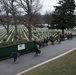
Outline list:
[[[76,47],[76,39],[66,40],[61,44],[49,44],[41,48],[42,53],[38,57],[34,57],[34,53],[22,55],[18,58],[17,63],[13,63],[13,59],[0,61],[0,75],[14,75],[48,59],[56,57],[72,48]]]

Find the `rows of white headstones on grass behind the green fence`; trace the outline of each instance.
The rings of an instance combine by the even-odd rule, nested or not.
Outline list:
[[[5,29],[0,29],[0,42],[2,42],[3,39],[6,39],[6,42],[8,41],[14,41],[14,33],[15,33],[15,28],[13,26],[11,26],[10,30],[11,33],[9,34],[9,36],[6,34],[6,30]],[[34,34],[34,32],[36,34]],[[24,26],[24,25],[19,25],[18,26],[18,33],[20,37],[24,37],[26,38],[26,40],[28,41],[28,29]],[[44,29],[39,29],[39,30],[33,30],[32,31],[32,40],[43,40],[46,37],[49,37],[51,35],[51,31],[49,30],[45,30]],[[13,35],[13,36],[12,36]]]

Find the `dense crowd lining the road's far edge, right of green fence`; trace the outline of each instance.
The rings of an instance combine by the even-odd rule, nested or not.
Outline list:
[[[54,44],[55,42],[60,43],[61,41],[64,41],[65,39],[69,40],[72,39],[73,35],[72,33],[65,33],[61,34],[57,32],[55,35],[50,35],[50,37],[44,38],[42,41],[37,41],[37,45],[40,47],[47,46],[50,42]]]

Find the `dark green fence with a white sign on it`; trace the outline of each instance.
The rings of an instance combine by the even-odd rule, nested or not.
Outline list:
[[[11,57],[13,51],[17,51],[20,54],[30,53],[35,50],[35,41],[26,42],[17,45],[11,45],[0,48],[0,60]]]

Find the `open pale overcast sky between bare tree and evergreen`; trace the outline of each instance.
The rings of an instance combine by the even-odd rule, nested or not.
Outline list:
[[[43,5],[41,13],[44,14],[46,11],[53,11],[53,6],[56,6],[58,2],[59,0],[41,0],[41,4]]]

